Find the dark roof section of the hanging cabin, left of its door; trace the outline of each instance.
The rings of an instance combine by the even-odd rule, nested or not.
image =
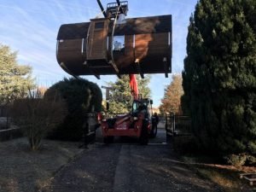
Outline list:
[[[57,39],[86,38],[90,22],[61,25]]]

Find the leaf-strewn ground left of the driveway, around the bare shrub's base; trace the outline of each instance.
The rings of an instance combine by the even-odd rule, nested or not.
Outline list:
[[[83,151],[79,145],[44,140],[40,150],[31,151],[25,137],[0,143],[0,192],[38,191]]]

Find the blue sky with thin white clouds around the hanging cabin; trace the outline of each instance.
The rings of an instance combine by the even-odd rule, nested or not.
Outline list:
[[[102,0],[105,7],[113,0]],[[181,73],[186,55],[189,16],[197,0],[130,0],[127,17],[172,15],[172,73]],[[56,35],[61,24],[87,22],[101,15],[96,0],[0,0],[0,44],[18,51],[20,64],[29,64],[38,84],[51,85],[69,77],[55,59]],[[101,15],[102,16],[102,15]],[[83,76],[99,86],[113,76]],[[172,81],[164,74],[151,76],[150,88],[154,107],[160,105],[164,89]]]

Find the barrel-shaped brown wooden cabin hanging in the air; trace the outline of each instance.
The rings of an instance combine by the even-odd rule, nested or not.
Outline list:
[[[79,75],[168,73],[172,71],[172,15],[108,18],[65,24],[56,57],[67,73]]]

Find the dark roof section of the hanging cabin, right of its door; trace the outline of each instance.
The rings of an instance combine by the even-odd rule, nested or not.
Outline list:
[[[112,26],[113,24],[110,25]],[[111,26],[109,27],[108,35],[111,35]],[[172,32],[172,15],[126,19],[125,24],[116,26],[114,34],[133,35],[155,32]]]

